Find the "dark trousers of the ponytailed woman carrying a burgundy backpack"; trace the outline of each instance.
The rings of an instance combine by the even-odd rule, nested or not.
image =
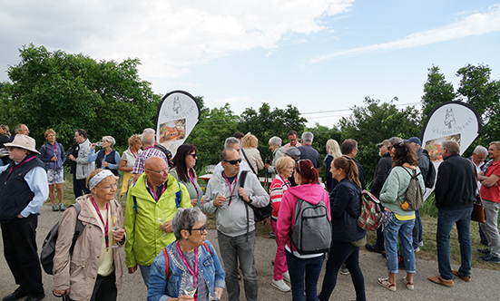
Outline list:
[[[352,284],[356,290],[356,300],[365,301],[365,278],[359,268],[359,248],[350,242],[332,242],[328,255],[327,269],[323,279],[323,287],[319,294],[319,300],[328,300],[337,284],[338,270],[342,264],[346,266],[352,278]]]

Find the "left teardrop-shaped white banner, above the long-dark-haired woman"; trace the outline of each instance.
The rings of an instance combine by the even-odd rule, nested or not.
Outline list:
[[[156,115],[156,141],[177,153],[200,119],[200,106],[188,92],[172,91],[162,97]]]

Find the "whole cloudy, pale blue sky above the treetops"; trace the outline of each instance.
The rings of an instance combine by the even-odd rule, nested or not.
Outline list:
[[[292,104],[332,127],[366,96],[420,102],[433,64],[455,87],[467,63],[500,79],[499,32],[498,0],[0,0],[0,81],[30,43],[137,57],[156,93],[237,113]]]

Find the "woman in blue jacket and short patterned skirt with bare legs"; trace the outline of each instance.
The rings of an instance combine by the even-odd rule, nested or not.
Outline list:
[[[47,170],[47,181],[49,183],[49,199],[52,202],[53,211],[64,211],[63,204],[63,183],[64,171],[63,163],[66,160],[64,147],[61,143],[55,141],[55,131],[49,129],[45,131],[45,139],[47,142],[40,148],[40,160],[45,163],[45,170]],[[54,185],[57,190],[57,199],[59,200],[59,207],[55,204]]]

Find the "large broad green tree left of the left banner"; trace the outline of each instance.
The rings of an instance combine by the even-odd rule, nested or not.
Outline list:
[[[139,78],[139,59],[96,62],[33,44],[20,49],[20,57],[7,71],[15,103],[10,113],[30,127],[38,144],[49,128],[64,145],[74,144],[74,130],[83,128],[92,141],[112,135],[123,147],[132,133],[154,126],[160,96]]]

